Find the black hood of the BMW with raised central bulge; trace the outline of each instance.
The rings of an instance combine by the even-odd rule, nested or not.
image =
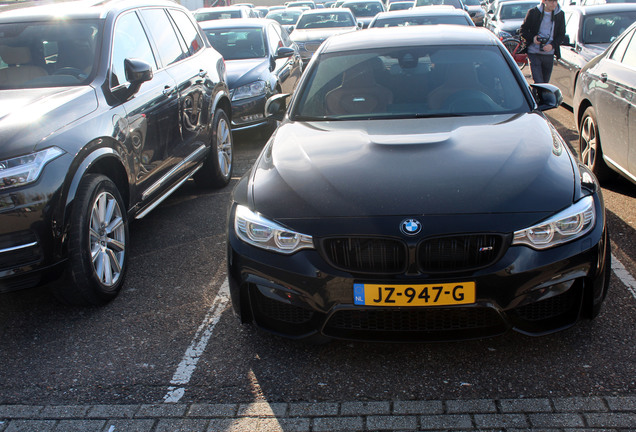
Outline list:
[[[572,204],[574,181],[539,113],[287,122],[248,199],[274,219],[554,212]]]

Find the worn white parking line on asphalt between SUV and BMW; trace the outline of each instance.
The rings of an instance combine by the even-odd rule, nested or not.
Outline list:
[[[168,387],[168,393],[163,397],[165,403],[177,403],[185,394],[185,387],[192,378],[192,374],[197,367],[197,363],[201,355],[208,345],[208,341],[212,336],[214,327],[221,319],[221,314],[227,309],[230,301],[230,289],[227,279],[223,281],[219,292],[212,303],[212,307],[203,319],[203,322],[194,334],[194,338],[190,346],[186,350],[181,363],[177,367],[177,371],[170,381],[171,386]]]

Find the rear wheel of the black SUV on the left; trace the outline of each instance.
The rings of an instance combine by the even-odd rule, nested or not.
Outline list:
[[[234,160],[232,130],[223,109],[214,112],[212,124],[212,145],[203,167],[194,175],[194,181],[201,187],[223,187],[230,182]]]

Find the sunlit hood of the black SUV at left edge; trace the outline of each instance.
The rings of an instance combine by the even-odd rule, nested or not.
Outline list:
[[[1,93],[0,160],[46,147],[52,133],[97,109],[95,90],[89,86]]]

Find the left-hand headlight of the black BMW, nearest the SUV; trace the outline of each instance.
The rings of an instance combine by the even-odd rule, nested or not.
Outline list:
[[[288,230],[242,205],[236,206],[234,231],[245,243],[283,254],[314,248],[311,236]]]

